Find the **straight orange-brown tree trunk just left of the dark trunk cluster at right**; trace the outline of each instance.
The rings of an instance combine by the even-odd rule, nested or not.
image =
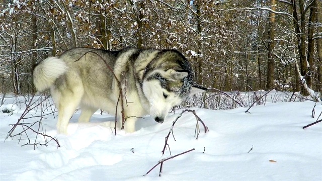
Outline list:
[[[270,0],[271,9],[276,11],[275,0]],[[273,50],[275,48],[275,13],[269,12],[269,32],[268,32],[268,53],[267,53],[267,85],[266,89],[274,88],[274,58]]]

